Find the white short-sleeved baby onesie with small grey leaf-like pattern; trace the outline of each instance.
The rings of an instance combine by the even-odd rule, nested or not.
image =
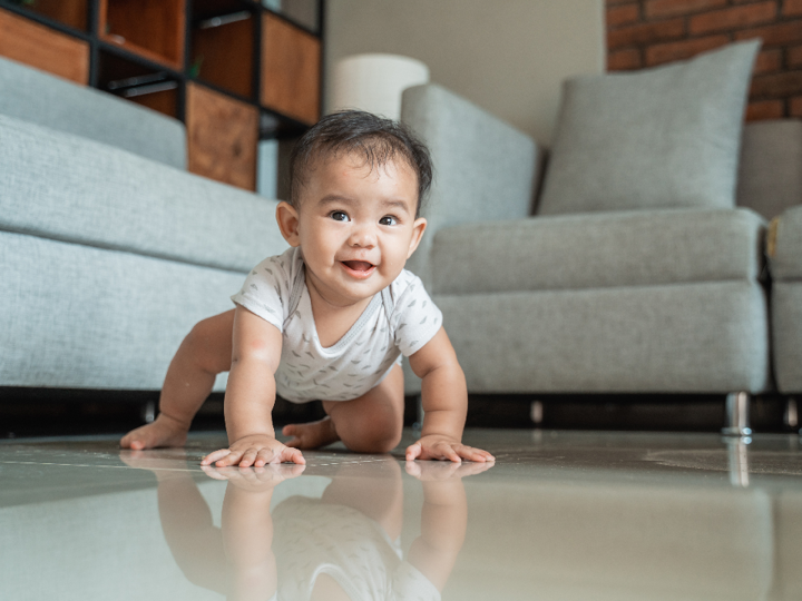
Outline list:
[[[276,393],[293,403],[362,396],[384,380],[402,354],[417,353],[442,325],[442,314],[423,283],[403,269],[340,341],[323,348],[300,248],[260,263],[232,300],[282,333]]]

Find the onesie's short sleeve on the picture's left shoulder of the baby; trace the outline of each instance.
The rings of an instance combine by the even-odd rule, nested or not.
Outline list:
[[[245,278],[242,289],[232,296],[232,300],[255,313],[284,332],[286,312],[290,308],[293,272],[299,268],[294,260],[294,248],[282,255],[268,257],[260,263]]]

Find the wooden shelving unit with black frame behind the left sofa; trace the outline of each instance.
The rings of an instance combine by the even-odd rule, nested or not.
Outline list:
[[[190,171],[255,189],[320,117],[324,0],[0,0],[0,55],[180,119]]]

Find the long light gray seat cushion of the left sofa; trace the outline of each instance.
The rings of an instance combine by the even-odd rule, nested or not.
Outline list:
[[[0,229],[247,272],[286,247],[276,203],[0,116]]]

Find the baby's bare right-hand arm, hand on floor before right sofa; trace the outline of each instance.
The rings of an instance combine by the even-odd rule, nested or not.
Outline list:
[[[487,451],[461,443],[468,388],[451,341],[442,327],[426,346],[410,355],[410,366],[422,380],[424,415],[421,437],[407,449],[407,460],[495,461]]]

